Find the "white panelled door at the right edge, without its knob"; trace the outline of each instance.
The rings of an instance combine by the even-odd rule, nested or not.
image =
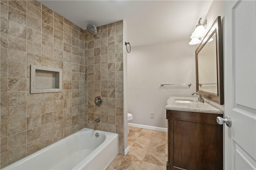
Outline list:
[[[224,168],[256,170],[256,1],[225,1]]]

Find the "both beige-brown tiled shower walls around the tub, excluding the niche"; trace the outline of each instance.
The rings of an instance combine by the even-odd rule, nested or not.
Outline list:
[[[84,127],[120,134],[123,152],[122,22],[93,36],[37,1],[0,3],[1,168]],[[63,92],[30,94],[30,64],[62,68]]]

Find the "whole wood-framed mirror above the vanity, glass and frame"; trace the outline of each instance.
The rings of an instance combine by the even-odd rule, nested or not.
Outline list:
[[[196,91],[208,100],[224,104],[223,38],[220,16],[196,49]]]

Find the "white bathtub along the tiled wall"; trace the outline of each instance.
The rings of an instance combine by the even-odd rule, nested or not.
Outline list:
[[[84,128],[3,170],[103,170],[117,154],[118,134]]]

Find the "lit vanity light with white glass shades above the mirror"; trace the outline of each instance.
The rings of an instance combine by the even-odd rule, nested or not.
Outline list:
[[[196,25],[196,29],[190,37],[191,41],[188,43],[189,45],[196,45],[201,43],[199,38],[204,37],[206,33],[207,20],[205,20],[203,24],[201,24],[201,21],[202,18],[199,19],[198,24]]]

